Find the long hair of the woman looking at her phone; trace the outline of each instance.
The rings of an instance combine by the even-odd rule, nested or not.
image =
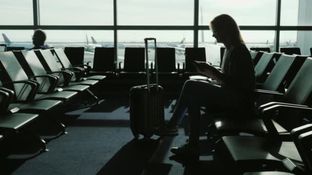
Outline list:
[[[221,14],[214,17],[210,22],[210,30],[211,29],[214,31],[222,31],[232,43],[245,43],[236,21],[228,14]]]

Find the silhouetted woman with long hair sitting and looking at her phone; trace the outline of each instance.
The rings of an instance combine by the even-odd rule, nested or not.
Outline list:
[[[221,72],[206,62],[195,62],[198,72],[217,80],[221,86],[206,81],[184,83],[177,106],[162,135],[177,135],[177,125],[186,111],[189,114],[189,142],[171,149],[177,155],[199,156],[200,107],[221,109],[252,109],[256,78],[253,62],[236,21],[227,14],[216,16],[210,30],[217,42],[226,47]]]

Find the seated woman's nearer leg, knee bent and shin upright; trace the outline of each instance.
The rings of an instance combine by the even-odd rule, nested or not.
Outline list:
[[[188,91],[185,102],[189,114],[189,143],[178,148],[172,148],[174,154],[199,154],[199,127],[200,127],[200,107],[210,108],[240,107],[243,105],[242,96],[237,91],[220,88],[202,81],[189,81],[192,91]]]

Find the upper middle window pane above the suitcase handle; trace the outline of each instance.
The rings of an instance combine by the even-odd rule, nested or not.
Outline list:
[[[191,26],[194,1],[118,0],[118,25]]]

